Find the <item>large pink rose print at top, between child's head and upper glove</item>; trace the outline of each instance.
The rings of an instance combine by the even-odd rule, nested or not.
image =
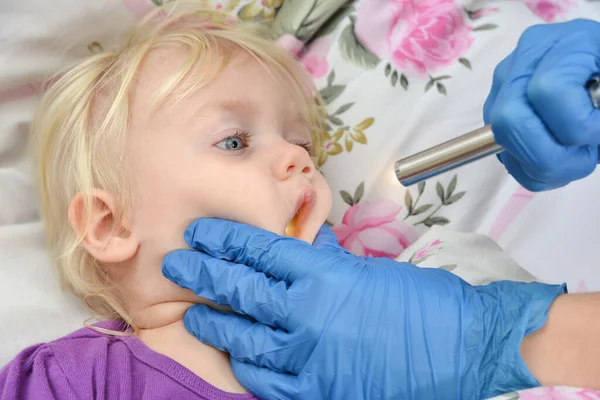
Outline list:
[[[365,0],[356,12],[360,41],[407,75],[439,70],[473,43],[472,29],[453,0]]]

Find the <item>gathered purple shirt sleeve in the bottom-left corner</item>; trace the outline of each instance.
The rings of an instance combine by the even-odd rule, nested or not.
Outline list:
[[[23,350],[0,370],[0,398],[71,399],[65,374],[47,344]]]

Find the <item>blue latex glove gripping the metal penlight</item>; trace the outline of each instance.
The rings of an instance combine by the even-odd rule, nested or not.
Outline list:
[[[561,187],[596,168],[600,111],[584,86],[598,72],[600,24],[588,20],[527,29],[496,68],[484,120],[525,188]]]

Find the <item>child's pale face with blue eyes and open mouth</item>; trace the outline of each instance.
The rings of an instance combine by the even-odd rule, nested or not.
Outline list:
[[[185,228],[201,217],[284,235],[301,205],[294,236],[312,242],[331,192],[301,147],[311,137],[290,89],[239,53],[210,84],[150,113],[153,89],[185,57],[173,50],[152,54],[132,98],[132,233],[140,252],[162,259],[185,247]]]

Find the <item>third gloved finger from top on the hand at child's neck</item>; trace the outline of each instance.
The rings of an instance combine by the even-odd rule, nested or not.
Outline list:
[[[293,335],[242,316],[196,305],[185,313],[186,329],[198,338],[244,363],[277,372],[297,374],[312,352],[297,346]]]

